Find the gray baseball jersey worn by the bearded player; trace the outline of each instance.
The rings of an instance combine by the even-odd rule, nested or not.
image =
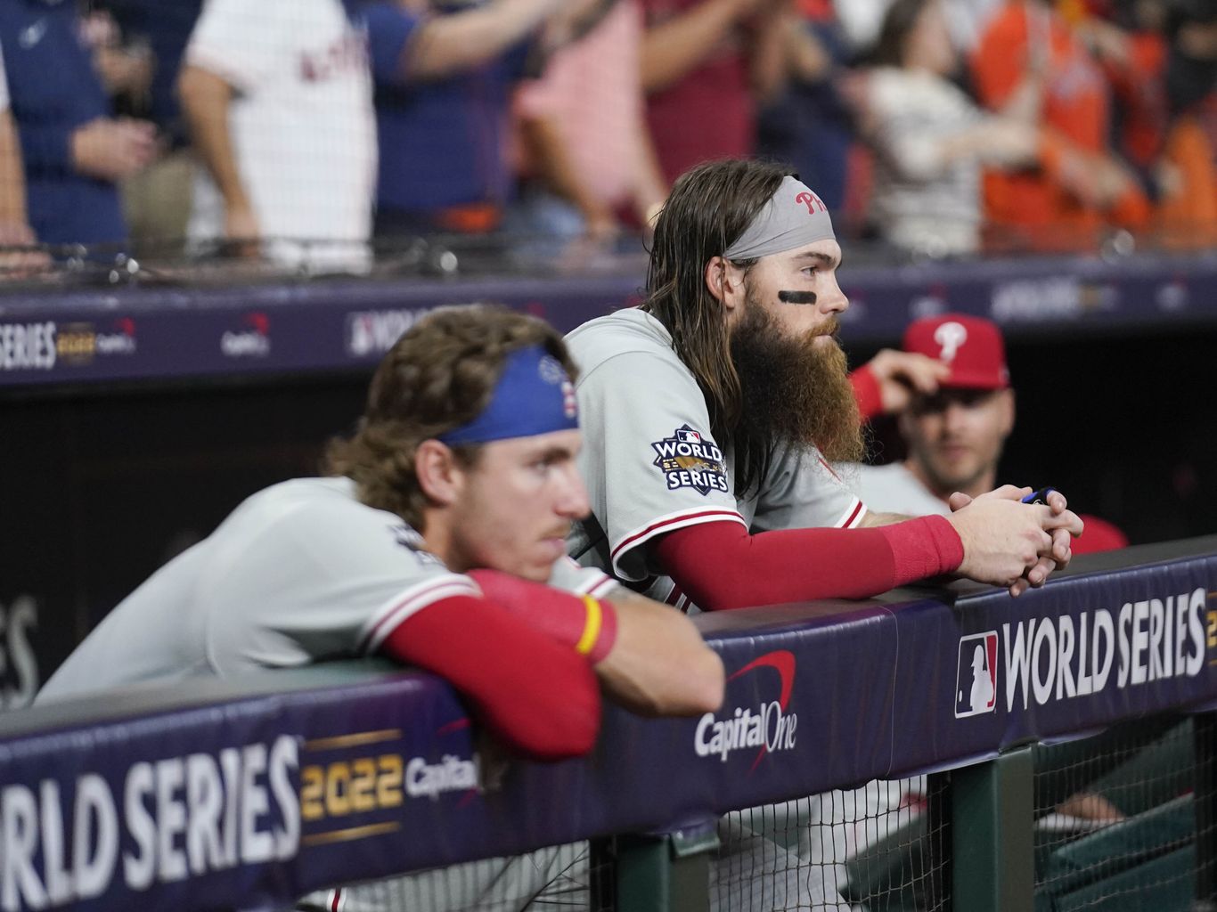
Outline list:
[[[591,517],[567,542],[579,563],[683,608],[688,599],[646,556],[656,535],[716,522],[847,528],[865,516],[814,447],[781,449],[759,490],[736,497],[730,446],[711,438],[701,388],[650,314],[599,317],[566,342],[579,365],[579,467],[591,499]]]

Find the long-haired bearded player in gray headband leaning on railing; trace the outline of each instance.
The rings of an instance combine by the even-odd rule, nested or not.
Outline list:
[[[581,563],[713,610],[943,573],[1017,595],[1069,561],[1082,524],[1059,492],[1032,506],[1005,486],[908,519],[868,512],[836,477],[829,462],[863,450],[840,264],[828,209],[783,168],[722,161],[680,178],[643,305],[567,337],[591,495],[571,539]]]

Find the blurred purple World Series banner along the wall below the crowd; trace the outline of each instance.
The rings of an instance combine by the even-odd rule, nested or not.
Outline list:
[[[898,338],[909,320],[948,310],[992,317],[1014,332],[1157,326],[1217,313],[1217,265],[1204,257],[858,266],[845,278],[853,306],[842,319],[853,344]],[[0,302],[0,385],[349,370],[375,364],[437,306],[494,300],[567,332],[634,303],[643,283],[640,272],[627,272],[23,294]],[[690,486],[713,482],[672,477]]]

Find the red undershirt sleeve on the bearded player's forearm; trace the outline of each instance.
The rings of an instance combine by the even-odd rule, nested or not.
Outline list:
[[[671,531],[650,547],[664,573],[706,610],[868,598],[950,573],[964,559],[959,535],[941,516],[756,535],[739,523],[703,523]]]

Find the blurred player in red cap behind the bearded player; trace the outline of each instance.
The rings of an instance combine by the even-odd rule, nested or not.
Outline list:
[[[941,365],[946,373],[937,390],[909,390],[897,415],[908,456],[886,466],[858,467],[858,492],[875,510],[946,516],[955,491],[977,497],[997,483],[1015,421],[1005,340],[989,320],[944,314],[910,323],[901,348]],[[852,471],[845,474],[853,480]],[[1086,531],[1072,542],[1075,554],[1128,544],[1111,523],[1082,519]]]

